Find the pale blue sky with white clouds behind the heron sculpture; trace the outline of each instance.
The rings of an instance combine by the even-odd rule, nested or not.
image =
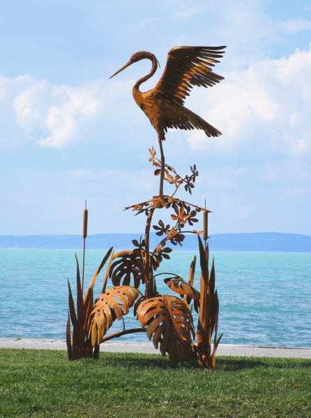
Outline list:
[[[141,232],[123,208],[158,193],[155,130],[132,99],[141,61],[176,45],[227,45],[185,105],[222,131],[169,130],[166,161],[197,164],[191,198],[210,233],[311,235],[311,4],[296,1],[3,1],[0,5],[0,235]],[[169,187],[165,189],[169,192]]]

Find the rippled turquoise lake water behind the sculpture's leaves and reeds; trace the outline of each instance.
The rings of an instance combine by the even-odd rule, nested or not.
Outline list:
[[[82,265],[82,252],[78,251]],[[188,280],[195,252],[172,253],[162,272]],[[86,252],[86,285],[105,251]],[[215,252],[222,343],[311,347],[311,254]],[[0,336],[65,338],[68,287],[75,286],[75,251],[0,250]],[[197,265],[197,267],[199,267]],[[103,273],[95,286],[98,295]],[[195,279],[199,289],[199,276]],[[160,293],[171,293],[158,281]],[[137,327],[128,314],[127,327]],[[121,329],[116,321],[111,331]],[[124,339],[146,341],[143,334]]]

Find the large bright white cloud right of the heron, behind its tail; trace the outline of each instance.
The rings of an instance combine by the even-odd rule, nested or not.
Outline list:
[[[307,155],[311,150],[310,74],[311,51],[299,50],[289,58],[266,59],[247,70],[225,74],[225,81],[205,95],[200,112],[223,137],[208,139],[203,132],[192,131],[191,148],[232,153],[239,144],[249,144],[253,150],[261,144],[266,153]]]

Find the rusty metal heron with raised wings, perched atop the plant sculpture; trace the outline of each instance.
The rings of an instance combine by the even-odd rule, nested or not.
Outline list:
[[[139,79],[132,88],[135,102],[144,114],[148,116],[151,125],[158,134],[158,142],[161,154],[160,190],[163,194],[163,176],[165,157],[163,154],[162,141],[165,141],[167,128],[183,130],[201,129],[208,137],[218,137],[222,133],[215,127],[204,121],[187,107],[183,106],[185,97],[189,95],[192,86],[212,87],[224,77],[215,74],[212,67],[220,61],[225,47],[174,47],[169,51],[165,70],[159,82],[149,91],[139,91],[142,83],[151,78],[158,68],[158,60],[151,52],[140,51],[130,57],[123,67],[112,75],[119,74],[129,65],[142,59],[150,59],[152,62],[151,72]],[[160,64],[159,64],[160,66]],[[112,78],[110,77],[110,78]]]

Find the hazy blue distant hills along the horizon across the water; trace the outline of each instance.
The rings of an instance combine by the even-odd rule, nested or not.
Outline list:
[[[142,234],[143,235],[143,234]],[[134,233],[100,233],[86,238],[88,249],[132,248],[132,240],[139,239]],[[160,237],[151,234],[151,248]],[[209,246],[212,251],[275,251],[275,252],[311,252],[311,236],[295,233],[220,233],[211,235]],[[0,248],[33,249],[82,249],[80,235],[0,235]],[[197,237],[188,236],[183,247],[174,249],[197,250]]]

